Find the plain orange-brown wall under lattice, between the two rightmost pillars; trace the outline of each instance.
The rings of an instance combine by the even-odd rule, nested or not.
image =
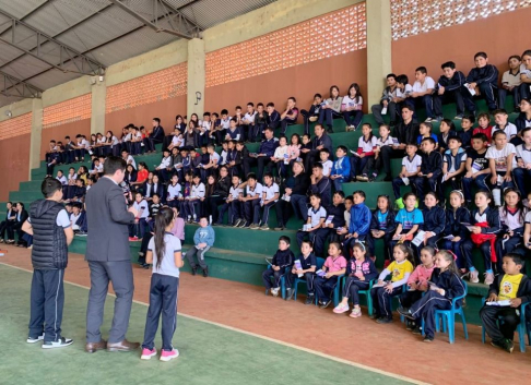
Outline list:
[[[295,96],[300,109],[307,109],[314,94],[320,93],[328,97],[330,86],[335,84],[340,87],[341,95],[344,95],[349,85],[354,82],[362,87],[362,95],[366,95],[366,49],[208,87],[204,92],[204,109],[220,112],[226,108],[233,113],[237,105],[245,109],[249,101],[255,105],[259,101],[264,105],[273,101],[278,110],[283,110],[290,96]]]

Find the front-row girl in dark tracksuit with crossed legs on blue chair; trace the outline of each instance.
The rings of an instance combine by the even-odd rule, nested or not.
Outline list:
[[[399,309],[399,313],[421,325],[424,320],[424,342],[433,342],[435,335],[436,310],[449,310],[452,299],[464,293],[464,285],[459,277],[455,255],[447,250],[441,250],[435,255],[435,268],[430,282],[433,288],[426,291],[410,309]],[[459,300],[457,306],[462,305]]]

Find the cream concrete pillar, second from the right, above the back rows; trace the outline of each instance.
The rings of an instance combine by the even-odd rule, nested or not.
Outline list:
[[[188,40],[188,93],[187,110],[190,117],[196,112],[201,119],[204,111],[204,41]]]

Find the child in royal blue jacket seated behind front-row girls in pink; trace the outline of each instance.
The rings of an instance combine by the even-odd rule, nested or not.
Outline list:
[[[353,194],[354,205],[351,207],[351,221],[349,233],[343,241],[343,255],[351,257],[351,249],[354,242],[365,242],[370,228],[370,209],[365,204],[365,192],[357,190]]]

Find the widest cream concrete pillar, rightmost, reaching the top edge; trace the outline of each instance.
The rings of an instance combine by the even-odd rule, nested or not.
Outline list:
[[[370,0],[367,7],[367,106],[377,104],[391,73],[391,1]]]

